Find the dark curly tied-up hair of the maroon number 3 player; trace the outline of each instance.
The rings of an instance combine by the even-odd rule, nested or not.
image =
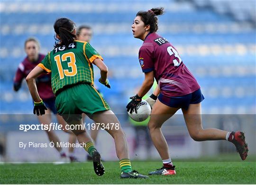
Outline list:
[[[139,11],[136,16],[140,16],[145,25],[150,25],[150,32],[158,30],[157,17],[164,13],[164,8],[151,8],[148,11]]]

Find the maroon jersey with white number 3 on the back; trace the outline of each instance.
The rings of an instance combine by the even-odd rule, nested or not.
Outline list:
[[[183,96],[200,88],[174,46],[156,33],[146,36],[139,50],[139,63],[144,73],[154,71],[165,96]]]

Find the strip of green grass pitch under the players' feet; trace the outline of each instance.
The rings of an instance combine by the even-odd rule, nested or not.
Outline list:
[[[161,162],[132,162],[133,169],[147,174]],[[0,165],[0,184],[256,184],[256,162],[175,162],[176,176],[149,176],[147,179],[120,179],[118,162],[104,162],[99,177],[92,162],[54,165]]]

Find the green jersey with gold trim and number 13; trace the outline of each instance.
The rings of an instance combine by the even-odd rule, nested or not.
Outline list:
[[[68,85],[78,83],[93,85],[91,63],[96,58],[103,60],[88,42],[75,41],[68,47],[56,47],[50,51],[38,66],[52,73],[52,89],[56,93]]]

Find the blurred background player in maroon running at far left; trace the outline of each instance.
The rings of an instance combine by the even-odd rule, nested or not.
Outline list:
[[[22,80],[27,77],[30,71],[32,71],[32,69],[35,68],[41,62],[42,59],[45,58],[45,55],[39,53],[39,48],[40,44],[37,41],[37,39],[28,38],[25,41],[25,52],[27,54],[27,57],[18,66],[16,75],[14,77],[14,91],[18,91],[20,89]],[[43,99],[47,107],[45,115],[37,116],[39,122],[44,125],[50,124],[51,112],[53,112],[56,115],[58,123],[61,124],[64,128],[64,131],[69,133],[68,130],[65,130],[66,123],[64,119],[57,114],[57,110],[55,108],[55,95],[52,91],[51,75],[43,74],[37,77],[36,84],[38,93],[40,94],[40,97]],[[60,143],[58,136],[54,133],[52,129],[50,131],[46,130],[46,134],[48,135],[49,140],[55,143],[56,150],[60,153],[61,159],[65,161],[65,152],[61,147],[57,147],[56,144],[57,142]],[[70,143],[75,143],[76,136],[73,133],[70,133],[69,140]],[[76,158],[73,155],[69,155],[69,157],[71,161],[76,161]]]

